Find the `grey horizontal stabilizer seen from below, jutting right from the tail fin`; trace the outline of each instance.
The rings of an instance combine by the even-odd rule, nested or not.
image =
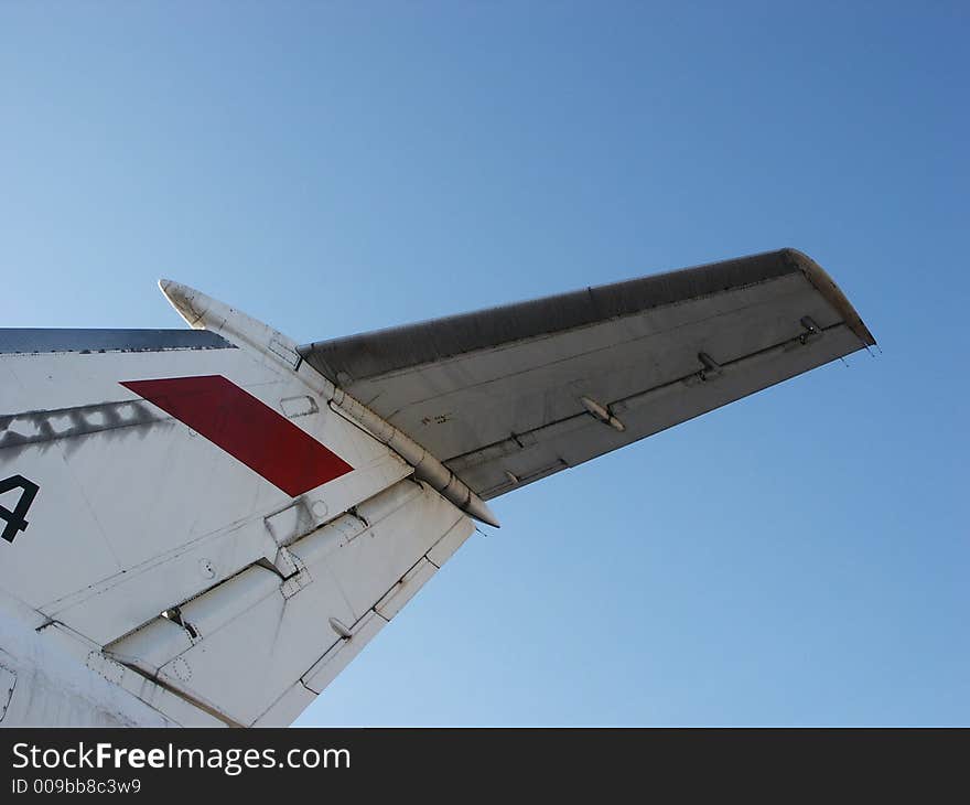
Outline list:
[[[872,344],[782,249],[300,353],[488,500]]]

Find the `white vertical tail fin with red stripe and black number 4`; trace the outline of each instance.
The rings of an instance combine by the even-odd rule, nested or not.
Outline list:
[[[0,331],[8,609],[179,723],[288,723],[472,532],[265,333]]]

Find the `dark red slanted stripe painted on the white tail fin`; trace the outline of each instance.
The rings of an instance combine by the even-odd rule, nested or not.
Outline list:
[[[354,469],[222,375],[128,380],[121,385],[184,422],[291,497]]]

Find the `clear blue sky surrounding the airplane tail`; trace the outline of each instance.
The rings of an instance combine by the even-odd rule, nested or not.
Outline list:
[[[301,724],[967,724],[967,3],[0,3],[0,325],[794,246],[883,353],[496,500]]]

